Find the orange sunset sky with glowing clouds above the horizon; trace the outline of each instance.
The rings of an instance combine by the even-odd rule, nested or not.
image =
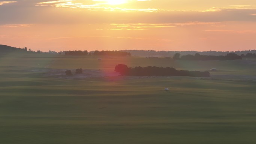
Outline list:
[[[256,0],[0,0],[0,44],[41,51],[256,49]]]

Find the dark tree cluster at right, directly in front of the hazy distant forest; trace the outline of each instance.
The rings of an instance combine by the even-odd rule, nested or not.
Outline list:
[[[180,58],[181,60],[200,60],[200,61],[209,61],[209,60],[235,60],[235,59],[242,59],[241,56],[235,53],[228,53],[226,56],[214,56],[214,55],[200,55],[196,53],[195,55],[183,55]]]

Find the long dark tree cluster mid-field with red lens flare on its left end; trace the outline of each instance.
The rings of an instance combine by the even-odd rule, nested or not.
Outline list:
[[[123,76],[192,76],[192,77],[210,77],[208,71],[187,71],[176,70],[172,67],[135,67],[130,68],[124,64],[118,64],[115,71]]]

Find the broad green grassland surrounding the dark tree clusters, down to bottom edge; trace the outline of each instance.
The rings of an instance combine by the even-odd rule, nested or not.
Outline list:
[[[45,76],[48,69],[113,71],[117,64],[216,68],[212,76],[252,79]],[[255,144],[255,72],[253,59],[1,56],[0,143]]]

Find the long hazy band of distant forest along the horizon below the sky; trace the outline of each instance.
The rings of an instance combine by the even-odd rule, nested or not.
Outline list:
[[[255,52],[255,53],[253,53]],[[49,51],[49,53],[57,53]],[[158,57],[164,56],[173,58],[175,54],[179,54],[181,60],[233,60],[242,58],[256,58],[256,50],[244,50],[235,52],[197,52],[197,51],[155,51],[155,50],[95,50],[88,52],[87,50],[69,50],[58,52],[61,55],[77,55],[77,56],[147,56]],[[240,54],[241,53],[241,54]]]

